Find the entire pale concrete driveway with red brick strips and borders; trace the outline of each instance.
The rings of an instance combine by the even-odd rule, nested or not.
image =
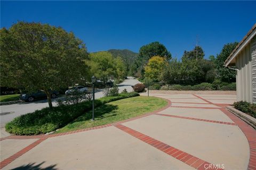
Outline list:
[[[95,128],[2,138],[1,168],[256,169],[256,131],[225,109],[235,95],[153,96],[169,104]]]

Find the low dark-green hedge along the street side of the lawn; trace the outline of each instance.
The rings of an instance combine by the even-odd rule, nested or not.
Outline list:
[[[95,107],[129,97],[139,96],[137,92],[122,93],[118,96],[109,96],[96,99]],[[52,132],[65,126],[78,116],[92,108],[92,101],[83,101],[75,105],[63,105],[53,109],[43,108],[33,113],[15,117],[5,125],[7,132],[17,135],[35,135]]]

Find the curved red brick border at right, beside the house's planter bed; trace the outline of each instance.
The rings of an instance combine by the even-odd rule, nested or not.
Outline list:
[[[238,127],[242,130],[245,137],[247,138],[249,147],[250,147],[250,159],[249,159],[248,169],[255,170],[256,169],[256,130],[254,130],[249,124],[242,121],[236,115],[227,111],[225,108],[221,108],[220,110],[238,125]]]

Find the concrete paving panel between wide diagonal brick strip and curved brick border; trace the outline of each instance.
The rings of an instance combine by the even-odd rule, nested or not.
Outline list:
[[[249,144],[238,126],[159,115],[124,125],[225,169],[247,169],[249,163]]]

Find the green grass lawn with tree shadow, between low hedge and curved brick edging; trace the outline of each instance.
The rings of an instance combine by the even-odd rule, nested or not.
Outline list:
[[[167,105],[167,101],[156,97],[138,96],[113,101],[95,108],[95,121],[91,121],[92,111],[84,113],[75,121],[67,124],[56,133],[91,128],[114,123],[149,112],[156,111]]]

